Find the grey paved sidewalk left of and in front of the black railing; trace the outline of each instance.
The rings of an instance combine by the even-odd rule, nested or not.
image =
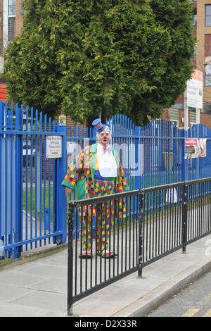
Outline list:
[[[75,317],[129,318],[151,310],[211,269],[211,235],[73,304]],[[1,317],[68,317],[68,245],[0,261]]]

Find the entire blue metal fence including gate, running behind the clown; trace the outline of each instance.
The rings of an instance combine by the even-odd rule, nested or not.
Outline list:
[[[124,115],[107,124],[131,190],[211,176],[211,130],[205,125],[187,132],[166,120],[136,127]],[[52,136],[61,137],[61,157],[47,158]],[[186,138],[206,138],[206,157],[185,159]],[[79,150],[94,142],[92,128],[67,131],[33,108],[0,101],[0,258],[2,251],[17,258],[24,249],[66,242],[67,199],[61,182]]]

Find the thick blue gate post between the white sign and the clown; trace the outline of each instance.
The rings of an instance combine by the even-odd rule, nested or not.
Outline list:
[[[57,132],[62,132],[62,157],[57,158],[56,167],[56,231],[62,231],[63,234],[56,238],[57,244],[64,244],[67,241],[67,197],[65,189],[61,185],[67,173],[67,125],[58,125]]]

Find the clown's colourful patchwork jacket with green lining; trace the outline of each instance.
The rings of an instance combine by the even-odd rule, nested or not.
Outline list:
[[[96,168],[97,144],[85,147],[75,158],[68,169],[68,173],[62,182],[65,187],[75,189],[77,187],[77,198],[89,199],[94,196],[94,172]],[[120,165],[117,153],[112,149],[117,163],[117,177],[115,178],[115,193],[129,191],[124,170]]]

